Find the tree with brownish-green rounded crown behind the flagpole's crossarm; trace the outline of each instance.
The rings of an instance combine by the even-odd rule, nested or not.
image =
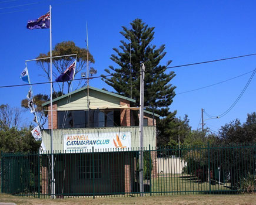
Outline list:
[[[87,49],[82,49],[78,46],[75,45],[74,42],[68,41],[68,42],[61,42],[57,43],[54,49],[52,50],[52,56],[63,56],[67,54],[77,54],[77,67],[75,70],[75,76],[84,71],[85,68],[87,67]],[[47,54],[45,53],[40,53],[37,59],[41,59],[44,57],[49,57],[50,53],[48,52]],[[89,63],[94,63],[94,58],[92,57],[91,53],[88,55]],[[52,69],[52,76],[53,80],[58,77],[60,74],[62,74],[68,66],[72,62],[74,62],[75,56],[70,56],[70,57],[59,57],[59,58],[54,58],[52,59],[52,64],[54,65],[55,69]],[[41,69],[44,71],[44,77],[46,77],[48,80],[51,80],[50,78],[50,59],[44,59],[44,60],[37,60],[36,63],[41,67]],[[82,83],[83,81],[77,81],[78,87],[84,86],[86,81]],[[67,81],[68,83],[68,88],[67,88],[67,93],[70,91],[70,86],[71,86],[71,81]],[[58,88],[55,88],[53,86],[54,93],[58,93],[58,91],[61,91],[61,94],[64,94],[64,82],[63,83],[58,83]],[[77,89],[76,88],[76,89]]]

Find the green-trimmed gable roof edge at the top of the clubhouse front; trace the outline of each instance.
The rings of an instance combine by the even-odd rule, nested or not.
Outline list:
[[[72,94],[78,93],[78,92],[80,92],[80,91],[82,91],[82,90],[85,90],[85,89],[87,89],[87,87],[82,87],[82,88],[80,88],[80,89],[78,89],[78,90],[72,91],[71,93],[62,95],[61,97],[54,98],[54,100],[52,100],[52,102],[59,101],[59,100],[61,100],[62,98],[68,97],[68,95],[72,95]],[[132,99],[132,98],[124,97],[124,96],[122,96],[122,95],[118,95],[118,94],[115,94],[115,93],[111,93],[111,92],[109,92],[109,91],[105,91],[105,90],[102,90],[102,89],[99,89],[99,88],[95,88],[95,87],[89,86],[89,89],[95,90],[95,91],[98,91],[98,92],[101,92],[101,93],[104,93],[104,94],[112,95],[112,96],[114,96],[114,97],[122,98],[122,99],[124,99],[124,100],[128,100],[128,101],[131,101],[131,102],[136,102],[136,101],[135,101],[134,99]],[[48,104],[50,104],[50,103],[51,103],[50,101],[45,102],[45,103],[42,104],[42,106],[44,107],[44,106],[46,106],[46,105],[48,105]]]

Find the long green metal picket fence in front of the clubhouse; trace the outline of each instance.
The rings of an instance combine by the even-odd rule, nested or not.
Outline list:
[[[1,192],[30,197],[238,194],[255,184],[256,146],[1,153]],[[51,154],[54,191],[51,192]],[[144,192],[139,190],[144,173]],[[250,177],[249,177],[250,176]],[[254,190],[255,191],[255,190]]]

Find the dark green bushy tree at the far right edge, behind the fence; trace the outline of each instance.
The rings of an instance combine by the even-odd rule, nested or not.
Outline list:
[[[221,127],[218,141],[215,146],[231,147],[225,149],[212,149],[212,167],[220,167],[221,180],[230,177],[231,189],[240,189],[240,180],[254,173],[252,166],[255,156],[256,143],[256,113],[247,114],[247,120],[241,123],[239,119],[231,121]],[[239,146],[251,145],[251,146]],[[226,157],[228,153],[229,157]],[[221,160],[218,160],[221,159]],[[248,166],[251,165],[251,166]]]

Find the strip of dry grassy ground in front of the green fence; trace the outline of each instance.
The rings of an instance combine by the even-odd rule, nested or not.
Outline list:
[[[67,199],[35,199],[17,197],[9,194],[0,194],[0,202],[32,205],[50,204],[223,204],[223,205],[256,205],[256,194],[244,195],[182,195],[182,196],[147,196],[147,197],[99,197],[91,198],[67,198]]]

